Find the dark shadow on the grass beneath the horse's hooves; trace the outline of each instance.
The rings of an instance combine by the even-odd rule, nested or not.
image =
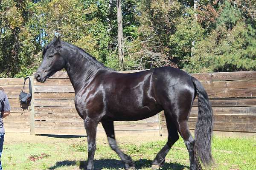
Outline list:
[[[147,159],[140,159],[137,161],[134,161],[136,169],[142,169],[142,168],[149,168],[151,167],[152,161],[149,161]],[[55,170],[59,167],[69,167],[69,166],[79,166],[80,170],[86,170],[86,161],[59,161],[56,162],[56,164],[52,167],[49,167],[49,170]],[[107,169],[123,169],[124,165],[122,161],[116,160],[116,159],[99,159],[93,161],[94,170],[102,170],[103,168]],[[183,170],[185,166],[178,163],[165,163],[164,166],[161,168],[161,170]],[[187,169],[189,167],[186,167]]]

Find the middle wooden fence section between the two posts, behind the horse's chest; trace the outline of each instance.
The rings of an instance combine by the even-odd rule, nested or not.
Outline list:
[[[74,89],[66,72],[58,72],[44,83],[34,80],[35,134],[85,135],[74,97]],[[136,122],[114,122],[114,126],[115,131],[159,133],[159,115]],[[101,124],[97,131],[104,131]]]

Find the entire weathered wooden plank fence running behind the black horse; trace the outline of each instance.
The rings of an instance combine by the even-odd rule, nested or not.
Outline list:
[[[215,131],[256,135],[256,71],[191,74],[207,90],[215,116]],[[86,135],[83,120],[74,106],[74,89],[66,72],[57,72],[40,83],[32,79],[32,110],[21,111],[18,94],[23,79],[0,79],[12,105],[4,119],[6,132]],[[28,90],[28,84],[26,89]],[[189,117],[189,128],[197,122],[197,99]],[[98,131],[103,131],[102,125]],[[115,122],[115,131],[167,135],[164,113],[136,122]]]

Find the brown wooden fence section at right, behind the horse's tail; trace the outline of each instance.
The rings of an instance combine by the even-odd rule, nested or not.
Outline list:
[[[256,133],[256,71],[191,74],[204,85],[212,104],[215,131]],[[189,128],[197,122],[198,100],[189,116]],[[167,135],[161,114],[161,134]]]

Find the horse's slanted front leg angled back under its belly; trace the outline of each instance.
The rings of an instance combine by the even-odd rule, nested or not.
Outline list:
[[[125,170],[134,170],[135,165],[131,157],[123,153],[116,144],[113,121],[102,122],[102,126],[108,136],[108,143],[112,150],[114,150],[125,164]]]

